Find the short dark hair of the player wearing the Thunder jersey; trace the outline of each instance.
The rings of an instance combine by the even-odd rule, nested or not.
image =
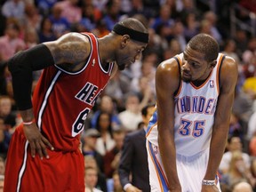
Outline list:
[[[204,59],[208,62],[216,60],[220,52],[217,41],[207,34],[198,34],[190,39],[188,46],[196,52],[204,53]]]

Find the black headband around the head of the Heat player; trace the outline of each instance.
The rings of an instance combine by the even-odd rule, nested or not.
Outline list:
[[[148,44],[148,33],[142,33],[132,28],[126,28],[118,23],[113,28],[113,31],[120,36],[129,35],[135,41]]]

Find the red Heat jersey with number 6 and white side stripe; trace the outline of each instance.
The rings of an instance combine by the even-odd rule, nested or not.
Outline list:
[[[91,33],[92,51],[79,71],[68,72],[59,66],[45,68],[33,94],[33,108],[44,136],[56,150],[75,151],[80,143],[78,133],[100,92],[108,84],[114,63],[102,68],[98,42]]]

